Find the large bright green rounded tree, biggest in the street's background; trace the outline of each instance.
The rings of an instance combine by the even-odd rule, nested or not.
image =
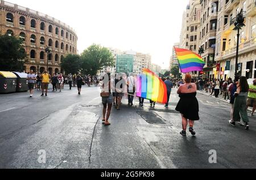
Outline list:
[[[108,48],[93,44],[81,54],[85,74],[95,75],[104,67],[114,66],[114,57]]]

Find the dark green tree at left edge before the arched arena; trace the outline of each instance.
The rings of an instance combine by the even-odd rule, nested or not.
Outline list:
[[[22,71],[27,54],[20,45],[19,38],[14,36],[0,36],[0,70]]]

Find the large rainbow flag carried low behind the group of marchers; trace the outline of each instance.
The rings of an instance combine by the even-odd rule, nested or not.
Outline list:
[[[167,88],[166,84],[154,72],[143,69],[143,74],[136,79],[137,97],[146,98],[151,101],[166,104]]]

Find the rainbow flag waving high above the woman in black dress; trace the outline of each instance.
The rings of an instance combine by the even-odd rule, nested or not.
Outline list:
[[[174,48],[182,73],[191,71],[202,71],[204,68],[204,60],[199,54],[193,53],[191,50]]]

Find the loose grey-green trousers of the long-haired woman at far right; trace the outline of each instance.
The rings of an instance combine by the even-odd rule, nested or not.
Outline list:
[[[248,123],[249,118],[247,115],[247,109],[246,109],[246,96],[237,96],[234,101],[234,113],[233,113],[233,121],[241,121],[241,118],[243,122]],[[241,117],[240,117],[241,115]]]

